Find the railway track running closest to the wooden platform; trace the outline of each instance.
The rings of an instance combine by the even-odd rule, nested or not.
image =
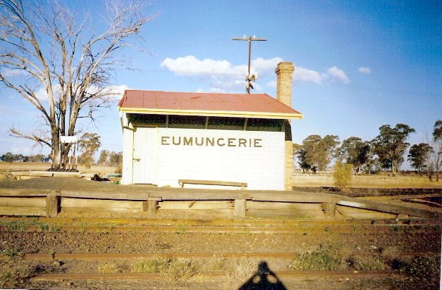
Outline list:
[[[0,231],[26,232],[180,232],[248,234],[414,234],[429,229],[442,230],[442,221],[362,220],[362,221],[283,221],[283,220],[148,220],[75,218],[0,218]]]

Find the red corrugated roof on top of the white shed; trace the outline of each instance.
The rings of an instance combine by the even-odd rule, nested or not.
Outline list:
[[[268,94],[218,94],[126,90],[118,103],[123,110],[143,111],[210,111],[266,113],[275,115],[302,114]]]

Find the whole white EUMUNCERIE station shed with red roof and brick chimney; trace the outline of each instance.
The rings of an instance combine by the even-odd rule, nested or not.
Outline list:
[[[276,68],[277,97],[126,90],[122,184],[291,189],[293,63]]]

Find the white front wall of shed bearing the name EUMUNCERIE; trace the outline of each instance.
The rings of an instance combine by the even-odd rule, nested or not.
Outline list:
[[[140,153],[136,157],[149,156],[152,160],[155,158],[152,153],[156,155],[156,160],[147,162],[146,166],[157,167],[156,184],[159,187],[178,187],[178,179],[203,179],[247,182],[248,189],[284,189],[283,132],[137,128],[135,144],[140,142],[137,137],[142,138],[145,133],[141,132],[145,130],[156,134],[156,148],[147,149],[149,152],[144,157],[138,156]],[[124,136],[130,139],[129,134]],[[176,145],[178,140],[180,144]],[[124,168],[129,163],[124,161],[128,158],[126,152],[130,156],[128,150],[123,151],[125,182],[130,179],[124,176],[125,172],[130,172]],[[137,180],[140,181],[139,177]],[[145,183],[155,184],[149,180]]]

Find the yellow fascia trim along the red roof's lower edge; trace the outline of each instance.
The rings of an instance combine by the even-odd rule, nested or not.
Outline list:
[[[124,113],[153,114],[153,115],[202,115],[231,118],[263,118],[263,119],[302,119],[303,115],[290,113],[269,112],[237,112],[237,111],[204,111],[204,110],[166,110],[151,108],[121,108]]]

